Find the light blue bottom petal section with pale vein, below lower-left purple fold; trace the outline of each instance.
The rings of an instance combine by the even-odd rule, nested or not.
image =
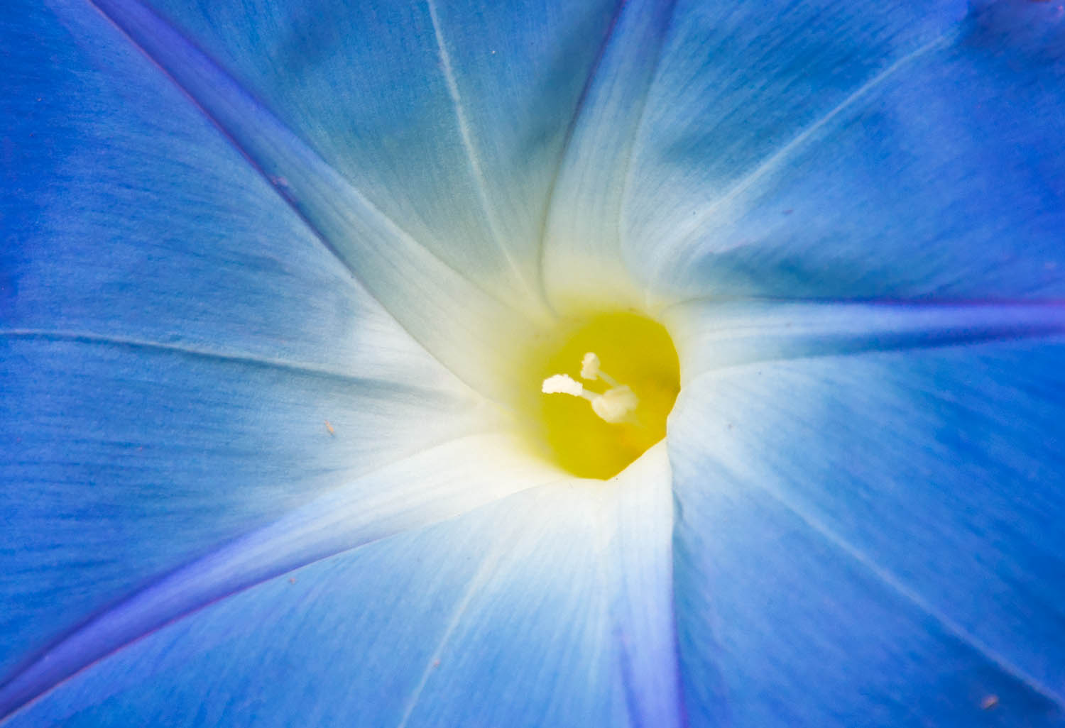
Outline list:
[[[141,640],[10,725],[620,726],[601,489],[537,489]]]

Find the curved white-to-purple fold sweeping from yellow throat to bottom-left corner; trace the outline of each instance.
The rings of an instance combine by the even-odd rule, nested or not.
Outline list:
[[[235,592],[560,479],[518,447],[507,435],[472,435],[430,448],[163,576],[23,664],[0,685],[0,719],[94,662]]]

